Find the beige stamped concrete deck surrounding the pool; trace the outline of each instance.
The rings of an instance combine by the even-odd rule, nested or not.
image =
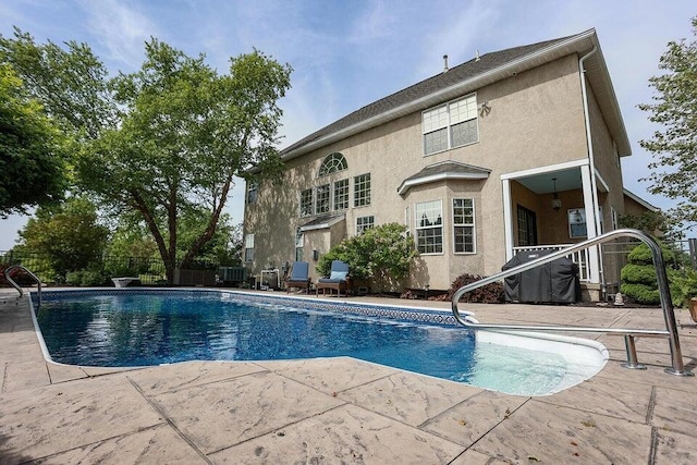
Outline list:
[[[482,322],[664,328],[660,309],[466,308]],[[687,310],[676,318],[694,369],[697,326]],[[638,339],[648,369],[629,370],[621,336],[582,336],[608,347],[608,365],[537,397],[345,357],[61,366],[44,359],[26,297],[0,289],[0,464],[697,463],[697,377],[663,372],[668,342]]]

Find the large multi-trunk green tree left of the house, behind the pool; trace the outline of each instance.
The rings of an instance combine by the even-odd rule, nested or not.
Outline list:
[[[231,59],[229,74],[156,39],[138,72],[114,81],[120,124],[85,145],[82,185],[115,211],[138,211],[172,279],[216,233],[235,175],[252,167],[273,174],[274,149],[290,86],[289,65],[255,50]],[[178,257],[179,220],[206,211],[200,233]]]

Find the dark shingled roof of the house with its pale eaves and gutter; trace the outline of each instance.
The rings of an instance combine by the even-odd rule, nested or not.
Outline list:
[[[514,69],[517,72],[522,72],[570,53],[588,52],[597,45],[596,32],[595,29],[589,29],[574,36],[485,53],[479,58],[451,68],[447,72],[441,72],[420,83],[381,98],[334,121],[290,145],[281,151],[281,156],[283,159],[291,159],[319,148],[325,144],[378,126],[392,119],[419,109],[425,110],[438,105],[438,102],[448,101],[454,98],[453,94],[449,93],[451,89],[453,91],[457,89],[461,91],[460,95],[464,95],[462,93],[462,90],[466,90],[463,89],[464,84],[472,83],[474,88],[469,91],[473,91],[477,86],[484,86],[510,76]],[[591,81],[594,78],[599,79],[603,86],[601,90],[604,90],[606,94],[609,90],[611,101],[603,110],[611,110],[612,118],[619,120],[615,125],[611,124],[611,130],[615,130],[613,132],[615,132],[615,139],[619,142],[617,147],[621,155],[629,155],[628,139],[626,139],[624,123],[619,112],[619,106],[604,66],[604,60],[601,53],[597,53],[597,56],[589,60],[589,62],[599,60],[599,64],[594,66],[588,77]],[[508,74],[502,74],[503,71]],[[626,144],[624,144],[625,142]],[[625,146],[626,150],[622,150]]]

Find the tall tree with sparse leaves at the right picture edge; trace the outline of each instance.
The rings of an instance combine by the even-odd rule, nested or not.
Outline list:
[[[697,17],[692,20],[697,37]],[[676,199],[671,210],[681,223],[697,222],[697,40],[671,41],[660,58],[659,69],[664,73],[651,77],[656,89],[653,103],[639,105],[650,113],[649,120],[660,129],[653,137],[640,140],[650,151],[653,170],[646,178],[652,194]]]

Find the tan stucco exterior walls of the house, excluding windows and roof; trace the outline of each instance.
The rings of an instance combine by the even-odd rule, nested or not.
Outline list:
[[[421,112],[418,111],[286,161],[288,170],[281,185],[262,183],[257,201],[245,208],[245,233],[254,233],[256,237],[255,260],[248,264],[252,272],[258,272],[267,262],[293,260],[295,230],[313,219],[299,218],[301,191],[341,179],[350,180],[350,208],[333,213],[345,215],[346,236],[355,234],[358,217],[374,216],[376,225],[389,222],[404,224],[407,211],[408,227],[415,236],[415,205],[442,201],[443,253],[421,254],[404,285],[428,284],[431,289],[449,289],[462,273],[490,276],[500,271],[505,262],[501,176],[588,157],[578,57],[571,54],[512,75],[477,89],[476,96],[478,105],[487,101],[491,108],[489,114],[478,118],[477,143],[424,156]],[[599,112],[597,103],[591,108]],[[591,124],[594,131],[603,132],[600,114],[591,118]],[[602,154],[598,157],[598,170],[607,172],[607,178],[614,182],[615,173],[606,162],[609,157],[604,155],[612,144],[607,140],[607,129],[604,133],[597,143]],[[332,152],[341,152],[345,157],[347,170],[319,178],[322,160]],[[403,180],[427,166],[447,160],[490,170],[489,178],[431,182],[413,186],[403,195],[398,194]],[[368,206],[355,208],[353,179],[364,173],[371,176],[371,201]],[[621,186],[621,178],[619,182]],[[516,201],[526,203],[526,208],[545,218],[538,223],[540,243],[570,242],[565,229],[560,230],[558,221],[552,218],[552,215],[563,218],[565,209],[550,213],[551,195],[536,196],[525,192],[521,184],[513,184]],[[580,192],[561,195],[565,207],[583,207]],[[474,254],[453,254],[452,200],[463,197],[473,198],[475,203]],[[321,255],[333,244],[332,241],[318,241],[315,232],[311,236],[314,238],[309,243],[310,234],[305,235],[304,257],[310,261],[310,274],[316,277],[311,249]],[[330,236],[338,237],[341,233],[332,232]]]

